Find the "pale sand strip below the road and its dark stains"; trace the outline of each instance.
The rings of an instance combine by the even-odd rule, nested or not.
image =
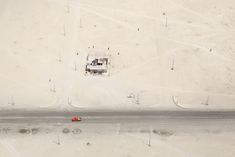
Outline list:
[[[73,127],[81,128],[79,125]],[[62,131],[64,128],[66,126],[51,127],[49,133],[44,128],[36,134],[21,134],[12,133],[11,130],[6,133],[1,127],[0,156],[233,157],[235,154],[234,132],[225,127],[220,130],[207,130],[200,126],[196,130],[188,130],[185,127],[186,132],[166,130],[172,131],[168,135],[133,132],[133,129],[132,132],[115,132],[114,126],[102,124],[94,127],[97,130],[91,130],[90,125],[83,126],[85,130],[82,128],[80,134],[74,134],[71,127],[68,127],[70,132],[65,134]],[[88,132],[86,128],[89,128]]]

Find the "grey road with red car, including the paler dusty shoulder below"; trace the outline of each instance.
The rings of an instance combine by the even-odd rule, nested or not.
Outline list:
[[[79,115],[82,122],[72,123]],[[133,133],[165,130],[175,133],[235,132],[235,112],[201,111],[0,111],[0,132],[40,128],[41,132],[61,132],[64,128],[86,133]],[[44,131],[43,131],[44,130]],[[156,131],[158,130],[158,131]]]

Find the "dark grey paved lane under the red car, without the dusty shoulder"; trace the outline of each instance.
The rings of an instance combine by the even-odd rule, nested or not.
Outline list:
[[[76,115],[81,123],[235,122],[235,111],[0,111],[0,123],[70,123]]]

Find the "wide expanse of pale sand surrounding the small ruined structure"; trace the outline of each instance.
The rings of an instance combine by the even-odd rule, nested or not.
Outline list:
[[[0,0],[0,108],[235,109],[234,8]],[[88,54],[111,54],[110,76],[85,76]]]

